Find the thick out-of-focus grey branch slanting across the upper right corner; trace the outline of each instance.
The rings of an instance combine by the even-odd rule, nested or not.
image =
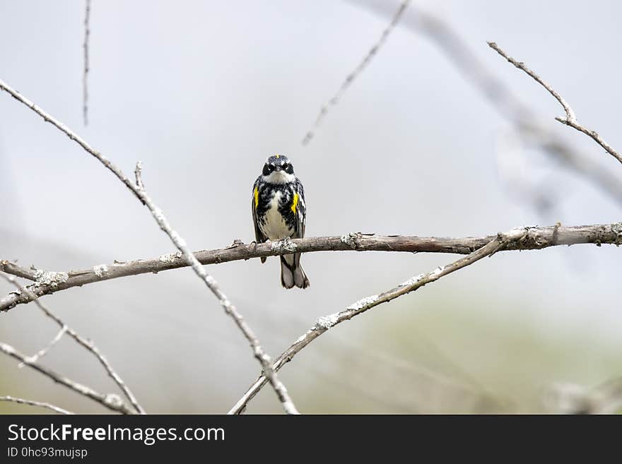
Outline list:
[[[368,8],[382,16],[389,17],[392,14],[393,4],[385,0],[348,0],[350,3]],[[467,42],[445,20],[421,6],[412,4],[408,14],[404,14],[399,25],[415,33],[423,33],[430,37],[442,52],[456,66],[460,76],[465,81],[479,90],[493,107],[507,118],[522,133],[551,156],[561,162],[561,166],[580,174],[585,179],[605,191],[612,198],[622,204],[622,182],[620,178],[598,163],[589,160],[573,145],[566,143],[540,124],[535,112],[526,105],[515,93],[508,88],[507,84],[495,76],[488,67],[483,64],[474,51],[469,48]]]

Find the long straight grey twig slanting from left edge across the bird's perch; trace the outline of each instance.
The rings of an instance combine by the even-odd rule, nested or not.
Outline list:
[[[228,314],[228,316],[230,316],[233,321],[235,321],[237,327],[240,328],[240,331],[242,331],[242,335],[245,336],[245,338],[252,347],[254,357],[257,358],[260,364],[262,364],[262,367],[266,372],[266,376],[270,380],[271,385],[274,387],[274,391],[276,392],[278,399],[283,404],[283,408],[288,413],[298,414],[298,410],[296,410],[295,405],[293,404],[289,394],[287,393],[287,389],[285,388],[283,383],[278,380],[278,376],[276,376],[276,373],[272,371],[272,362],[270,357],[264,352],[264,349],[259,344],[259,340],[254,335],[250,326],[248,326],[244,319],[242,319],[242,316],[237,311],[235,306],[233,306],[233,303],[230,302],[228,297],[219,287],[218,282],[216,282],[216,280],[211,275],[209,275],[206,270],[201,266],[201,263],[196,260],[194,254],[192,254],[192,251],[190,251],[190,249],[188,248],[186,241],[180,236],[180,234],[172,229],[170,223],[168,222],[168,219],[165,217],[162,210],[158,208],[158,206],[153,203],[153,200],[151,200],[151,197],[146,194],[146,191],[142,186],[142,181],[137,182],[136,184],[134,184],[134,182],[131,182],[131,180],[122,172],[121,169],[114,165],[107,157],[102,155],[97,150],[93,149],[83,138],[78,136],[78,134],[76,134],[74,131],[71,131],[69,127],[65,126],[60,121],[54,119],[54,117],[47,114],[47,112],[37,107],[33,102],[30,102],[30,100],[23,97],[23,95],[20,95],[20,93],[16,92],[16,90],[13,90],[13,88],[6,85],[6,83],[4,83],[3,81],[0,81],[0,90],[4,90],[13,98],[32,109],[35,113],[39,114],[40,117],[44,119],[44,121],[49,122],[50,124],[55,126],[61,132],[65,133],[66,136],[71,138],[72,141],[75,141],[76,143],[78,143],[78,145],[84,148],[87,153],[97,158],[102,163],[102,165],[107,167],[107,169],[110,169],[110,171],[115,174],[115,176],[121,182],[123,182],[123,184],[125,184],[125,186],[127,186],[127,188],[130,189],[134,193],[134,195],[136,195],[136,198],[138,198],[139,201],[141,201],[141,203],[143,203],[143,205],[145,205],[149,209],[151,215],[155,219],[155,222],[157,222],[158,226],[160,226],[160,229],[168,235],[168,237],[171,239],[173,244],[175,244],[177,249],[181,251],[185,261],[189,264],[190,267],[192,267],[194,273],[199,276],[199,278],[205,283],[209,290],[211,290],[213,295],[218,298],[218,302],[220,302],[221,307],[223,307],[223,309],[225,310],[225,314]],[[137,174],[139,178],[137,180],[140,180],[140,169],[136,169],[135,174]],[[103,273],[103,269],[100,269],[100,271]]]

